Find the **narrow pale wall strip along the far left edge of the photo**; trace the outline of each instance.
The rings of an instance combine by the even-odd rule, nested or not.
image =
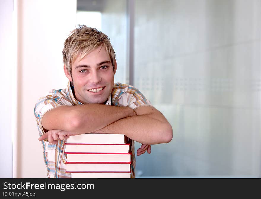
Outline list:
[[[0,1],[0,74],[1,74],[1,116],[0,116],[0,178],[12,177],[12,91],[13,54],[12,52],[12,12],[13,1]]]

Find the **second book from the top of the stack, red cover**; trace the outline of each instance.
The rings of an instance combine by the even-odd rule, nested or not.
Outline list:
[[[128,153],[130,151],[130,143],[126,144],[75,144],[65,143],[65,152],[78,153]]]

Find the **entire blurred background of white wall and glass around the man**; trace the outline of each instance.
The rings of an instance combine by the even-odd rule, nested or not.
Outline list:
[[[261,177],[261,0],[0,0],[0,177],[47,177],[34,105],[66,87],[63,42],[77,24],[109,36],[115,82],[173,128],[136,156],[137,178]]]

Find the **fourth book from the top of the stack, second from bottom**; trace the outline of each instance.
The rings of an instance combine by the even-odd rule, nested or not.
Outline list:
[[[66,162],[66,171],[130,171],[130,162]]]

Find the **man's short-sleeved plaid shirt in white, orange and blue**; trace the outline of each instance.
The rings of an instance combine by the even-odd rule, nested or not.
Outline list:
[[[37,127],[39,131],[39,136],[44,134],[44,129],[42,127],[42,116],[48,110],[55,108],[57,106],[68,105],[76,106],[81,105],[74,98],[72,91],[73,86],[70,82],[66,89],[55,90],[52,89],[46,96],[41,97],[35,105],[34,115],[37,122]],[[150,101],[147,100],[144,95],[133,86],[127,84],[116,83],[112,89],[111,95],[109,95],[106,105],[113,106],[125,106],[130,107],[133,110],[139,106],[152,106]],[[47,176],[48,178],[71,178],[71,173],[66,173],[67,155],[64,154],[65,141],[58,140],[58,144],[52,144],[46,141],[42,141],[44,162],[47,166]],[[131,178],[135,178],[135,150],[134,141],[131,140],[131,160],[132,164],[130,166],[130,171],[132,172]]]

